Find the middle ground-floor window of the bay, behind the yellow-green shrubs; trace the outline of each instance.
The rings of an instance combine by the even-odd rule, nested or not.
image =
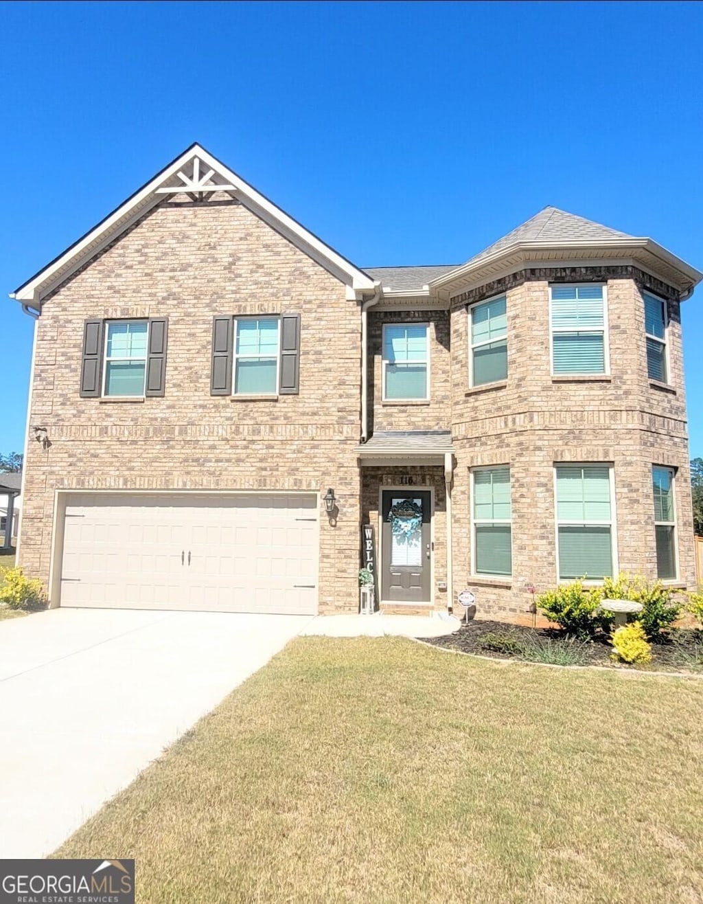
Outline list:
[[[613,469],[558,465],[558,578],[600,580],[613,575]]]

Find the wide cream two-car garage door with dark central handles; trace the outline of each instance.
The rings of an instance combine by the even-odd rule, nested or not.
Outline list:
[[[61,606],[317,612],[314,495],[81,494]]]

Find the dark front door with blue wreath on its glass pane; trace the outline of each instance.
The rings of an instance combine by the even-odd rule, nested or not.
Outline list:
[[[384,602],[430,602],[429,490],[384,490],[380,596]]]

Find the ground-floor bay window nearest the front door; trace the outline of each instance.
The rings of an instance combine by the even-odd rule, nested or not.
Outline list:
[[[473,574],[512,573],[511,469],[476,468],[473,476]]]

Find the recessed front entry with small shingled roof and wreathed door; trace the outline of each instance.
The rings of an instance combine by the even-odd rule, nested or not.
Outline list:
[[[361,543],[367,552],[372,544],[376,607],[403,614],[451,609],[451,434],[380,431],[357,451]]]

